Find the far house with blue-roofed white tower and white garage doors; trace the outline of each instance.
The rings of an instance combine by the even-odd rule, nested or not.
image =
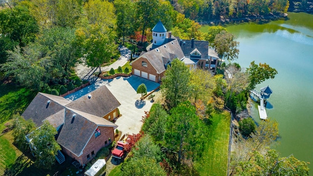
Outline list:
[[[215,72],[219,57],[207,41],[180,40],[172,36],[171,32],[167,32],[161,21],[152,29],[152,38],[147,52],[142,51],[140,56],[130,63],[133,75],[160,82],[167,66],[170,66],[175,58],[187,66],[212,69]]]

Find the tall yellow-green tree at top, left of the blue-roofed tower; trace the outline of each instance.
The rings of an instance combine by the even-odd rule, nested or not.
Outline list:
[[[88,24],[76,31],[77,40],[84,48],[88,66],[99,66],[111,60],[115,44],[115,10],[107,0],[89,0],[84,11]]]

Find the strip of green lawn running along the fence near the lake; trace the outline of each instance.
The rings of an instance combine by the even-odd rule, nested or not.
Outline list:
[[[225,176],[227,173],[230,114],[214,113],[209,125],[205,152],[195,168],[200,176]]]

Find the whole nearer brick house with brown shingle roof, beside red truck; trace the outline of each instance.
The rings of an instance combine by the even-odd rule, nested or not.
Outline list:
[[[62,152],[81,165],[88,163],[97,152],[112,143],[120,103],[107,87],[98,88],[71,102],[63,97],[39,92],[22,113],[37,127],[45,120],[56,128],[56,141]]]

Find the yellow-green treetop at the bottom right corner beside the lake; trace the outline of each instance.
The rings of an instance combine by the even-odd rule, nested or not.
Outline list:
[[[241,161],[236,168],[238,176],[309,176],[308,163],[293,155],[280,157],[275,150],[263,154],[253,152],[251,159]]]

